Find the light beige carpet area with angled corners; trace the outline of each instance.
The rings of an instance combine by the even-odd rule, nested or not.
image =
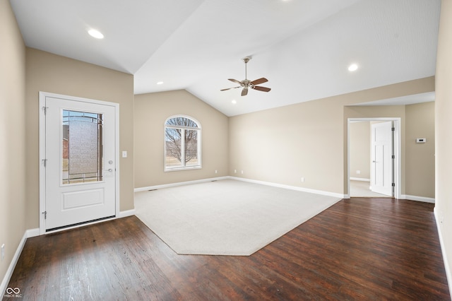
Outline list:
[[[135,209],[177,254],[247,256],[339,200],[224,179],[136,192]]]

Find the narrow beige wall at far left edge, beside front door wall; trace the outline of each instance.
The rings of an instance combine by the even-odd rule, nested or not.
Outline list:
[[[0,0],[0,283],[25,225],[25,45],[7,0]],[[1,297],[4,290],[0,291]]]

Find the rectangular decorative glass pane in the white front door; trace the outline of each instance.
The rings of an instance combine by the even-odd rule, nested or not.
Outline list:
[[[63,184],[102,181],[102,114],[63,111]]]

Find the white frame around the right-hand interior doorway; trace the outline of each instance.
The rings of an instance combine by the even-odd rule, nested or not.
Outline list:
[[[350,198],[350,123],[351,122],[378,122],[378,121],[392,121],[394,126],[394,154],[396,159],[394,162],[394,183],[396,189],[394,190],[394,198],[402,199],[402,143],[400,133],[402,119],[400,117],[376,117],[376,118],[348,118],[347,119],[347,195]],[[369,141],[370,143],[370,141]]]

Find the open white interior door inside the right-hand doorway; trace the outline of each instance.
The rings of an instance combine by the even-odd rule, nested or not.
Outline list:
[[[371,191],[393,196],[393,122],[371,124]]]

